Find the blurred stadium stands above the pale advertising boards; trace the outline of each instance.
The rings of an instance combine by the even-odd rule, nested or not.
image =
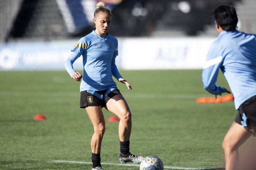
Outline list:
[[[86,35],[92,31],[96,3],[97,0],[0,0],[0,42]],[[241,31],[256,33],[255,0],[118,0],[107,3],[113,12],[109,32],[130,37],[217,36],[210,10],[224,3],[237,8]]]

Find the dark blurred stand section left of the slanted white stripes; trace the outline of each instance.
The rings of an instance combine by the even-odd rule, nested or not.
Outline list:
[[[67,35],[55,0],[24,0],[8,39],[48,41],[51,38],[67,38]]]

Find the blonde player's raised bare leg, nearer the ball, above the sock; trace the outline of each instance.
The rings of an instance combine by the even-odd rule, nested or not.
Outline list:
[[[118,134],[121,142],[130,140],[132,130],[132,114],[121,94],[118,94],[108,101],[106,109],[114,113],[119,119]]]

